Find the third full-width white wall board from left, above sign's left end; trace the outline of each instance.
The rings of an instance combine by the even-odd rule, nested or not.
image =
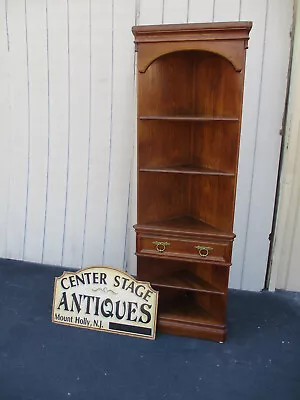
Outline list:
[[[68,168],[68,9],[67,2],[48,0],[49,170],[43,262],[62,259]]]

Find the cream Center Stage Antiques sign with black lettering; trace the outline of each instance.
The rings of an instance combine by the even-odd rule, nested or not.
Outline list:
[[[155,339],[158,292],[110,267],[55,278],[52,322]]]

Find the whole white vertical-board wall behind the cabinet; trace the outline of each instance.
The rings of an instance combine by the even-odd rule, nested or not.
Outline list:
[[[253,21],[230,286],[268,258],[292,0],[0,0],[0,257],[135,272],[134,24]]]

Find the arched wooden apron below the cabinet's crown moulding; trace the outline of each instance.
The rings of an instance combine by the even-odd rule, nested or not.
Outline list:
[[[147,43],[138,47],[138,71],[144,73],[157,59],[182,51],[199,51],[219,55],[226,59],[236,70],[242,71],[244,67],[245,48],[240,42],[224,46],[224,42],[188,42],[188,43]]]

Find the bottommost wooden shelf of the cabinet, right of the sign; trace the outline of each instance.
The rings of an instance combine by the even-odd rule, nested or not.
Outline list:
[[[220,322],[190,297],[178,296],[159,306],[159,319],[180,323],[220,326]]]

